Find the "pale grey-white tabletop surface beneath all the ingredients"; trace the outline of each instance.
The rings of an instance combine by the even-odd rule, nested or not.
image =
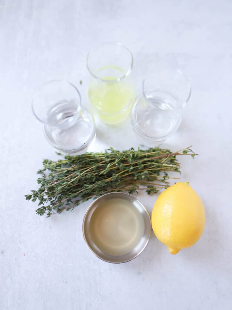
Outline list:
[[[232,2],[0,0],[0,309],[231,309]],[[30,109],[34,86],[73,82],[87,104],[86,55],[102,41],[133,53],[137,95],[159,61],[192,82],[184,121],[165,147],[193,144],[182,181],[202,198],[199,242],[176,256],[154,236],[135,260],[113,265],[84,243],[90,204],[47,219],[24,194],[37,188],[42,158],[55,159]],[[82,80],[83,84],[79,85]],[[94,150],[137,147],[130,122],[97,123]],[[139,195],[151,213],[155,196]]]

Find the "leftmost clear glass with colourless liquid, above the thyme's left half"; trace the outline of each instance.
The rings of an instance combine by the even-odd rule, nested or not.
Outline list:
[[[73,84],[60,80],[42,84],[33,94],[32,110],[43,123],[47,141],[62,153],[83,153],[93,143],[94,118]]]

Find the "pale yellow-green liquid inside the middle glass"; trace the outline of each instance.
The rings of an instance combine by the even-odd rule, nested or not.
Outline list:
[[[90,83],[89,100],[103,122],[118,123],[130,113],[135,97],[134,85],[123,80],[118,82],[116,77],[110,76],[102,80]]]

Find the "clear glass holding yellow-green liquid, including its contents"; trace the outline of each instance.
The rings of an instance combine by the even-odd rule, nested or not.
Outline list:
[[[87,69],[92,76],[88,98],[106,124],[121,122],[130,114],[135,99],[132,66],[132,54],[121,43],[102,43],[87,56]]]

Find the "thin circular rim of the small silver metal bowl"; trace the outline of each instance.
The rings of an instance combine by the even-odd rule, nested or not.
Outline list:
[[[149,222],[150,222],[150,233],[149,233],[149,237],[148,237],[148,239],[147,239],[145,245],[144,245],[144,246],[138,251],[138,253],[137,253],[134,257],[132,257],[131,259],[126,259],[126,260],[122,260],[122,261],[119,261],[119,262],[114,262],[114,261],[110,261],[110,260],[104,259],[104,258],[100,257],[96,252],[94,252],[94,250],[91,249],[91,247],[89,246],[89,244],[88,244],[88,242],[87,242],[87,239],[86,239],[86,234],[85,234],[85,232],[84,232],[85,221],[86,221],[87,214],[88,214],[89,210],[91,210],[91,208],[96,204],[96,202],[97,202],[98,200],[102,199],[102,197],[105,197],[105,196],[108,196],[108,195],[110,196],[110,195],[112,195],[112,194],[116,194],[116,195],[117,195],[117,194],[121,194],[121,195],[123,195],[123,196],[129,196],[129,197],[132,197],[133,200],[139,202],[139,204],[140,204],[140,205],[143,207],[143,209],[145,210],[145,212],[146,212],[146,214],[147,214],[147,216],[148,216],[148,218],[149,218]],[[86,210],[85,215],[84,215],[84,218],[83,218],[83,224],[82,224],[82,233],[83,233],[83,237],[84,237],[85,243],[87,244],[89,250],[91,250],[91,252],[92,252],[94,255],[96,255],[99,259],[101,259],[101,260],[103,260],[103,261],[105,261],[105,262],[107,262],[107,263],[113,263],[113,264],[127,263],[127,262],[131,261],[132,259],[135,259],[136,257],[138,257],[138,256],[145,250],[146,246],[148,245],[148,242],[149,242],[150,237],[151,237],[151,232],[152,232],[151,217],[150,217],[150,215],[149,215],[149,212],[147,211],[147,209],[146,209],[145,206],[143,205],[143,203],[142,203],[139,199],[137,199],[136,197],[134,197],[134,196],[132,196],[132,195],[130,195],[130,194],[128,194],[128,193],[124,193],[124,192],[110,192],[110,193],[103,194],[103,195],[101,195],[100,197],[96,198],[96,199],[90,204],[90,206],[88,207],[88,209]],[[112,256],[113,256],[113,255],[112,255]],[[123,256],[123,255],[118,255],[118,256]],[[116,257],[118,257],[118,256],[116,256]]]

